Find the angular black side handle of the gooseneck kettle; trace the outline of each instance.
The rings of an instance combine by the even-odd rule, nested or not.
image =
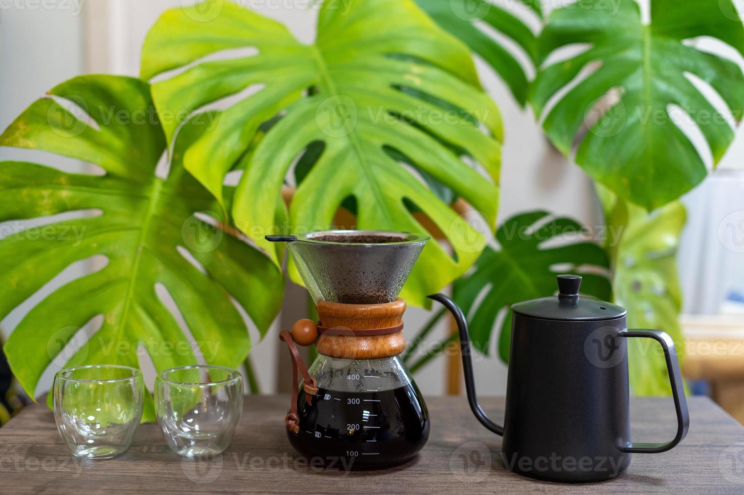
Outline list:
[[[690,427],[690,412],[687,411],[687,399],[684,397],[684,385],[682,383],[682,374],[679,372],[679,360],[674,346],[674,340],[668,333],[661,330],[623,330],[620,332],[622,337],[645,337],[654,339],[661,348],[664,349],[664,359],[667,360],[667,371],[669,371],[669,381],[672,385],[672,396],[674,397],[674,408],[677,412],[677,435],[667,443],[642,443],[631,442],[627,447],[620,450],[628,453],[660,453],[672,449],[682,441],[687,435],[687,429]]]

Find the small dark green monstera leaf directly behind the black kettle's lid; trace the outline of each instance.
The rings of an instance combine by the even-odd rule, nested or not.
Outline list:
[[[609,300],[612,288],[603,274],[609,269],[606,253],[596,243],[582,240],[583,229],[568,218],[552,218],[546,211],[512,217],[498,228],[498,249],[487,247],[472,272],[455,281],[452,295],[467,316],[472,343],[488,354],[491,334],[498,325],[498,355],[509,361],[511,312],[519,301],[553,296],[557,275],[583,276],[581,293]],[[545,246],[548,244],[548,246]],[[503,314],[503,318],[499,316]]]

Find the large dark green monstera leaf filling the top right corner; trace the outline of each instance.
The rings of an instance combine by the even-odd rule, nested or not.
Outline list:
[[[539,39],[542,61],[568,45],[589,48],[542,68],[530,100],[538,114],[547,114],[543,127],[567,155],[586,122],[589,132],[576,162],[615,194],[650,210],[689,191],[707,173],[678,122],[696,125],[713,164],[734,138],[730,119],[701,89],[717,92],[737,122],[744,109],[739,66],[688,40],[712,36],[744,54],[744,26],[731,0],[652,0],[649,25],[641,22],[635,1],[611,3],[589,0],[582,8],[551,13]],[[557,103],[547,109],[554,98]]]

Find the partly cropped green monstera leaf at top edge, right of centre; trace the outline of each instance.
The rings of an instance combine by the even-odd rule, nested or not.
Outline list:
[[[416,0],[426,13],[452,35],[457,36],[472,51],[480,55],[507,83],[514,98],[524,106],[529,80],[525,68],[516,57],[487,30],[506,36],[537,66],[537,39],[532,30],[518,16],[488,0]],[[536,16],[542,18],[538,0],[519,0]]]

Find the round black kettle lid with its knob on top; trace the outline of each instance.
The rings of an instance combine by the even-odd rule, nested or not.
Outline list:
[[[625,316],[625,308],[601,299],[579,296],[579,275],[558,275],[558,296],[512,304],[514,313],[552,320],[603,320]]]

